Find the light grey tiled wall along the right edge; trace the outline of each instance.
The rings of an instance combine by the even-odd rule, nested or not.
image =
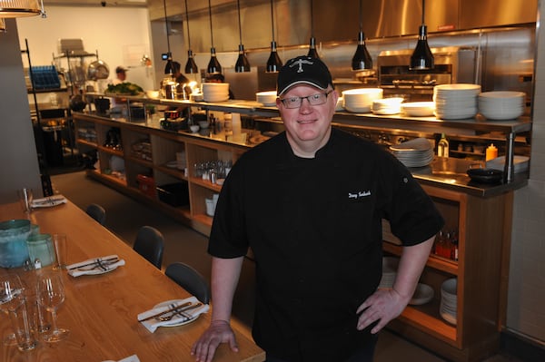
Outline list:
[[[545,14],[545,2],[539,3]],[[534,99],[545,99],[545,34],[538,29]],[[507,326],[545,341],[545,103],[533,105],[530,181],[515,194]]]

